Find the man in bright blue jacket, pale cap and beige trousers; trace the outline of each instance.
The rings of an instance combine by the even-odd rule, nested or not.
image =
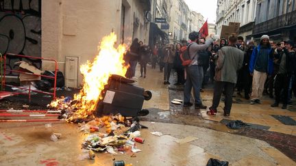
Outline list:
[[[260,44],[253,50],[249,62],[249,72],[253,76],[251,105],[260,104],[267,76],[273,73],[273,52],[269,36],[263,35]]]

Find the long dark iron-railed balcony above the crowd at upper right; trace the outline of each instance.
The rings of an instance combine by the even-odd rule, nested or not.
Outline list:
[[[255,25],[253,35],[273,33],[296,25],[296,10]]]

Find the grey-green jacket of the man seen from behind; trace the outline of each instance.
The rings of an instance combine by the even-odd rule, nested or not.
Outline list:
[[[234,46],[223,46],[218,51],[215,81],[236,83],[237,71],[243,67],[244,54]]]

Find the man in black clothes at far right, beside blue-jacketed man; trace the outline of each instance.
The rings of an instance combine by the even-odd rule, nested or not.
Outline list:
[[[279,64],[279,70],[275,77],[275,103],[271,107],[277,107],[280,103],[280,94],[283,90],[283,105],[282,109],[286,109],[288,102],[288,85],[290,83],[291,75],[295,74],[295,51],[293,51],[294,43],[289,40],[284,44],[281,43],[281,47],[284,48],[284,53],[279,54],[277,64]]]

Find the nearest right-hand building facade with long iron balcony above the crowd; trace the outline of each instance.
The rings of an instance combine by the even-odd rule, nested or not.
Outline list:
[[[263,34],[271,40],[296,41],[296,1],[295,0],[258,0],[256,20],[252,36],[259,40]]]

